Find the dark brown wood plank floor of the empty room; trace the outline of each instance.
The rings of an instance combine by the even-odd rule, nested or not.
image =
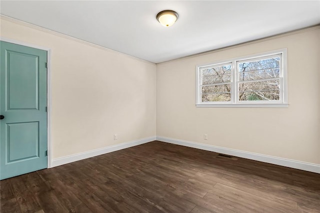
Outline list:
[[[150,142],[0,182],[1,213],[320,213],[320,174]]]

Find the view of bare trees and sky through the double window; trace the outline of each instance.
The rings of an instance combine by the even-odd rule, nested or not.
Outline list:
[[[200,67],[200,102],[280,100],[281,58],[282,53],[276,53]]]

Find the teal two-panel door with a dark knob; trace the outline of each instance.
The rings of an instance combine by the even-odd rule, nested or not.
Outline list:
[[[47,168],[46,54],[0,41],[0,180]]]

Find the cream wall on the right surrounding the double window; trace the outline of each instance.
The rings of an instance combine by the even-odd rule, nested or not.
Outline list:
[[[288,55],[288,108],[195,107],[196,65],[281,48]],[[320,164],[319,67],[320,27],[157,64],[156,134]]]

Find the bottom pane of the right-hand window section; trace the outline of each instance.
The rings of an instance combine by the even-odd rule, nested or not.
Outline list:
[[[239,101],[270,101],[279,100],[279,90],[264,90],[255,92],[240,92]]]

